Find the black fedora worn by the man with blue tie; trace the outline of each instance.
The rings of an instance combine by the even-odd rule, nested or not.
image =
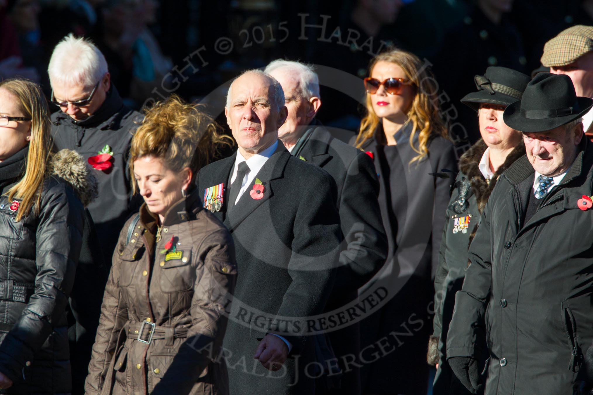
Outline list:
[[[581,118],[592,106],[592,99],[576,96],[568,75],[539,73],[521,100],[506,107],[503,119],[515,130],[546,131]]]

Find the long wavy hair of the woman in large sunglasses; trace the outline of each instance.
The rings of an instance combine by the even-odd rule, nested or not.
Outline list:
[[[436,136],[449,139],[447,128],[443,123],[439,111],[437,90],[438,86],[432,73],[423,65],[415,54],[393,49],[378,54],[369,65],[369,75],[378,62],[391,62],[400,66],[407,79],[416,89],[416,95],[407,112],[408,121],[412,123],[410,146],[418,154],[410,163],[420,161],[428,156],[428,144]],[[366,115],[362,118],[361,127],[356,136],[355,145],[361,148],[364,143],[373,138],[380,118],[372,108],[371,94],[366,94]],[[414,144],[414,136],[418,133],[418,144]]]

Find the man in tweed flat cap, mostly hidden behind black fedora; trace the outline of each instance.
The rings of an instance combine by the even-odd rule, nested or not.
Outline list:
[[[566,74],[577,96],[593,98],[593,26],[576,25],[563,30],[544,46],[541,64],[550,73]],[[583,127],[593,139],[593,111],[583,115]]]

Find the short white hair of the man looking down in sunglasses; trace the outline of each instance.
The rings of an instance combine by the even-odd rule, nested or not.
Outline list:
[[[90,89],[109,71],[103,53],[91,40],[70,33],[53,49],[47,66],[49,82],[55,86],[82,85]]]

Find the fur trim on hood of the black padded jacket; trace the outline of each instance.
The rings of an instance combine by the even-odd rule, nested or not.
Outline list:
[[[97,177],[82,155],[74,150],[56,152],[49,161],[49,174],[68,182],[84,207],[98,197]]]

